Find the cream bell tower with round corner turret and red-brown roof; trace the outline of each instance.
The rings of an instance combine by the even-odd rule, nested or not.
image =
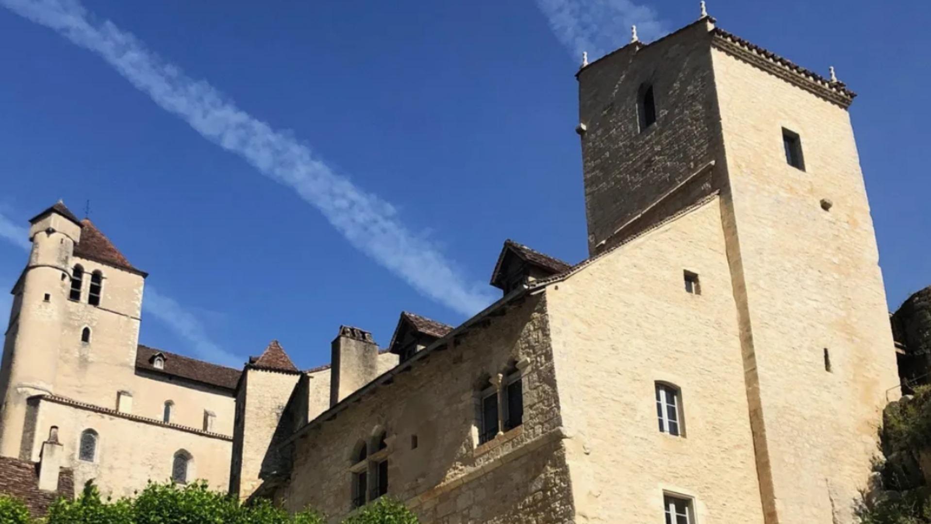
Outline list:
[[[115,406],[115,384],[133,380],[146,276],[61,202],[30,223],[0,365],[0,455],[22,459],[37,458],[47,432],[30,397]]]

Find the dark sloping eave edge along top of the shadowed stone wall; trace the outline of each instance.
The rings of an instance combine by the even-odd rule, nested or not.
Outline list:
[[[514,289],[510,293],[507,293],[504,297],[499,299],[497,302],[492,303],[492,305],[481,310],[477,315],[472,316],[471,318],[466,320],[466,322],[463,322],[462,324],[460,324],[459,327],[457,327],[456,329],[452,329],[452,331],[447,333],[446,336],[439,339],[437,342],[428,345],[425,349],[421,351],[418,351],[417,353],[414,354],[414,356],[398,364],[398,366],[395,366],[392,369],[388,369],[387,371],[385,371],[385,373],[382,373],[370,383],[363,385],[362,387],[358,388],[356,391],[354,391],[349,396],[346,396],[343,400],[340,400],[339,402],[337,402],[329,410],[326,410],[320,413],[319,415],[317,415],[317,417],[314,418],[314,420],[308,423],[305,423],[300,429],[295,431],[290,437],[288,437],[278,447],[281,448],[283,446],[287,446],[294,440],[300,437],[303,437],[311,429],[319,426],[320,424],[324,422],[332,420],[333,418],[336,417],[337,414],[339,414],[340,411],[345,410],[347,406],[357,401],[362,396],[365,396],[367,393],[371,392],[371,390],[375,389],[376,387],[386,384],[386,383],[394,382],[394,378],[398,376],[398,374],[411,369],[412,366],[414,366],[418,361],[425,360],[427,356],[429,356],[434,351],[437,351],[438,348],[452,344],[458,336],[464,334],[469,328],[473,327],[475,324],[477,324],[479,321],[484,319],[486,316],[489,316],[495,311],[497,311],[498,309],[501,309],[502,307],[504,307],[508,302],[517,300],[524,295],[535,294],[530,291],[532,291],[532,289],[524,285],[524,286],[520,286],[518,289]]]

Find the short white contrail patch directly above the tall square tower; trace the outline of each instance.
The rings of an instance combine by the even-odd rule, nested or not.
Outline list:
[[[597,59],[630,41],[630,26],[637,25],[641,40],[668,33],[666,22],[653,7],[631,0],[536,0],[563,46],[573,57],[588,52]]]

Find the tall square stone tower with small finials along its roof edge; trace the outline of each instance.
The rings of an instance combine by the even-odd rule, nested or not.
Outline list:
[[[851,521],[898,395],[854,93],[707,16],[577,78],[590,254],[720,195],[766,522]]]

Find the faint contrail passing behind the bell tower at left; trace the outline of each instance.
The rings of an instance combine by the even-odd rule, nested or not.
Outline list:
[[[0,213],[0,237],[22,249],[29,250],[29,230],[20,227]],[[9,288],[0,288],[0,318],[6,318],[12,300],[8,294]],[[145,300],[142,301],[142,310],[161,320],[172,332],[183,341],[190,344],[196,356],[233,368],[241,368],[243,359],[224,351],[219,345],[213,343],[207,335],[207,330],[197,317],[188,312],[177,301],[159,293],[151,285],[145,286]]]

